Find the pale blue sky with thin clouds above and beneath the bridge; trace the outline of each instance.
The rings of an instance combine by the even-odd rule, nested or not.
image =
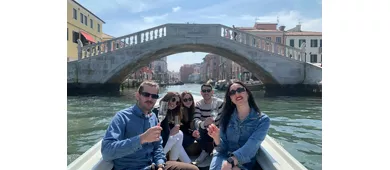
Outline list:
[[[287,29],[301,21],[302,29],[322,31],[320,0],[77,0],[103,19],[103,32],[115,37],[166,23],[218,23],[227,26],[276,22]],[[168,69],[200,63],[206,53],[168,56]]]

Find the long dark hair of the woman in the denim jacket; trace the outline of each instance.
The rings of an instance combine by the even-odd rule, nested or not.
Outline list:
[[[225,93],[225,104],[222,109],[221,113],[221,123],[220,127],[223,127],[223,131],[226,132],[227,125],[229,124],[230,118],[232,117],[233,111],[236,108],[236,105],[232,102],[230,99],[230,87],[234,84],[237,83],[241,85],[242,87],[245,88],[245,91],[248,93],[248,103],[249,107],[255,109],[257,113],[259,113],[259,116],[261,115],[261,111],[259,107],[257,107],[257,104],[255,102],[255,99],[253,98],[252,92],[245,86],[244,83],[241,81],[235,81],[233,83],[230,83],[229,86],[226,88],[226,93]]]

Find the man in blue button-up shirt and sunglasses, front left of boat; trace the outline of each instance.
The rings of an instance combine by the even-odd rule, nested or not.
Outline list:
[[[102,141],[102,156],[115,170],[188,169],[194,165],[168,161],[163,152],[161,130],[151,112],[158,99],[159,86],[143,82],[136,93],[137,104],[117,112]]]

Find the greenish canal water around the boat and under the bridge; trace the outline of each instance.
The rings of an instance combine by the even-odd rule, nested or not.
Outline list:
[[[136,89],[125,89],[116,97],[68,96],[68,164],[87,151],[104,135],[114,114],[134,104]],[[167,91],[190,91],[200,95],[199,84],[161,88]],[[215,91],[222,98],[224,92]],[[322,166],[322,99],[307,97],[264,98],[254,92],[260,109],[271,118],[269,135],[308,169]]]

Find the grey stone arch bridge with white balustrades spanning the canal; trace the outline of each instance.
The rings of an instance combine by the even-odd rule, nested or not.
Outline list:
[[[164,24],[88,46],[79,43],[78,51],[79,60],[67,64],[68,94],[119,91],[130,73],[181,52],[228,58],[251,71],[268,91],[302,90],[322,81],[322,68],[303,61],[301,49],[220,24]]]

